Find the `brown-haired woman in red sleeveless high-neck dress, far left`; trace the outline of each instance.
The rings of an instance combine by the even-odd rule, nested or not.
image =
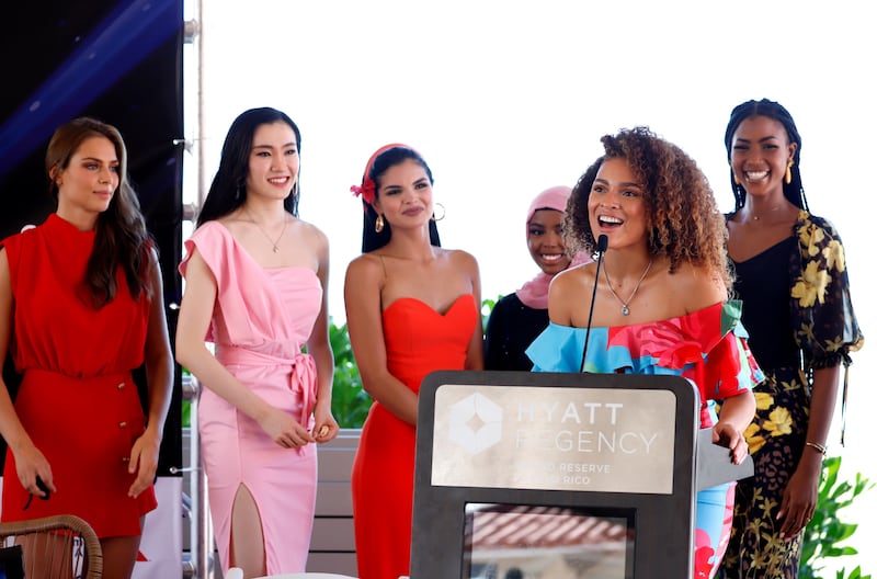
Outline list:
[[[101,540],[104,578],[130,577],[156,508],[173,382],[161,273],[126,160],[110,125],[59,127],[46,152],[58,208],[0,247],[0,356],[9,352],[22,375],[14,407],[0,384],[2,520],[84,519]],[[130,374],[144,362],[148,415]]]

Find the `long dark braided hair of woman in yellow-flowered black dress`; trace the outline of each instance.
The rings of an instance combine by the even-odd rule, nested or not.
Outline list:
[[[798,127],[795,126],[795,120],[786,107],[778,102],[768,99],[760,101],[747,101],[738,104],[731,111],[731,118],[728,121],[728,127],[725,129],[725,150],[728,152],[728,161],[731,160],[731,148],[733,147],[733,134],[740,123],[753,116],[766,116],[781,123],[788,134],[788,139],[795,143],[795,154],[791,158],[791,182],[786,183],[783,180],[783,195],[799,209],[807,209],[807,196],[804,194],[804,184],[801,183],[801,136],[798,133]],[[733,179],[733,167],[731,167],[731,189],[734,196],[734,211],[740,211],[747,202],[747,192],[743,186],[738,184]]]

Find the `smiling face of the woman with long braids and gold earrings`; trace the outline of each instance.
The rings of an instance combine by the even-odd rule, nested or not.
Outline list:
[[[797,145],[785,127],[768,116],[740,123],[731,140],[731,169],[750,195],[783,196],[783,178]]]

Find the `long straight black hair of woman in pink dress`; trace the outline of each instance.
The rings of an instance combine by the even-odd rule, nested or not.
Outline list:
[[[285,113],[263,106],[242,112],[231,123],[223,143],[223,154],[219,158],[219,169],[213,178],[207,197],[198,213],[197,224],[218,219],[237,209],[247,201],[247,177],[250,172],[250,152],[253,148],[255,130],[262,125],[286,123],[295,133],[296,148],[301,152],[301,133],[298,126]],[[298,217],[298,186],[299,174],[296,175],[293,191],[283,201],[284,208]]]

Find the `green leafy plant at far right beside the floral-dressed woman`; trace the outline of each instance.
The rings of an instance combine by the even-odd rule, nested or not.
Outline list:
[[[857,555],[858,550],[850,545],[841,545],[855,533],[858,525],[841,521],[838,512],[848,507],[862,492],[872,489],[874,483],[856,473],[855,483],[840,480],[841,457],[825,458],[822,464],[822,480],[819,484],[819,499],[813,518],[804,532],[801,563],[798,571],[800,579],[823,579],[821,571],[825,568],[825,559]],[[852,571],[843,567],[836,571],[835,579],[869,579],[863,575],[861,567]]]

